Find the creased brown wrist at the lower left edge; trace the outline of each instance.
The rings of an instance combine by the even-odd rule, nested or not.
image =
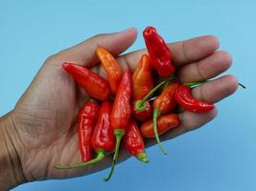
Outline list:
[[[12,113],[0,118],[0,191],[26,181],[19,158],[17,132]]]

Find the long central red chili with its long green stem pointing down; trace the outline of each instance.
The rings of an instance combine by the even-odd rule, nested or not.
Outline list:
[[[119,148],[121,139],[126,134],[126,128],[128,125],[128,119],[130,117],[130,96],[131,96],[131,74],[127,70],[118,86],[117,94],[114,99],[113,108],[110,116],[111,125],[114,129],[114,135],[116,137],[115,154],[111,165],[111,170],[108,177],[109,180],[114,172],[115,163],[118,159]]]

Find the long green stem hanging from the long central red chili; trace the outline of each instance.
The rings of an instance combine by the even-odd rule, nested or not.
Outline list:
[[[112,165],[111,165],[111,169],[110,172],[107,176],[107,178],[105,178],[105,181],[110,180],[110,178],[113,175],[114,169],[115,169],[115,164],[116,164],[116,160],[118,159],[118,154],[119,154],[119,148],[120,148],[120,143],[121,143],[121,139],[123,138],[123,136],[125,135],[125,130],[123,129],[116,129],[114,131],[115,137],[116,137],[116,147],[115,147],[115,154],[113,157],[113,161],[112,161]]]

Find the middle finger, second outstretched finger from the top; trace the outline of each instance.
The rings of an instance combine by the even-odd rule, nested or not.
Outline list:
[[[180,68],[177,75],[182,82],[206,80],[225,72],[231,62],[231,55],[220,51]]]

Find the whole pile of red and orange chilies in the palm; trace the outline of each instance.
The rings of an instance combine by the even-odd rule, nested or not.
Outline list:
[[[81,168],[112,155],[111,170],[105,178],[109,180],[121,148],[148,162],[144,140],[155,138],[161,151],[167,154],[159,136],[180,124],[177,106],[196,113],[214,109],[213,104],[191,94],[191,87],[202,82],[182,84],[175,77],[171,50],[156,30],[147,27],[143,37],[149,54],[141,56],[133,74],[128,69],[123,71],[115,57],[103,47],[98,47],[96,53],[107,80],[80,65],[63,63],[66,73],[92,99],[84,103],[78,118],[81,163],[57,164],[56,168]],[[156,82],[159,77],[162,80]]]

